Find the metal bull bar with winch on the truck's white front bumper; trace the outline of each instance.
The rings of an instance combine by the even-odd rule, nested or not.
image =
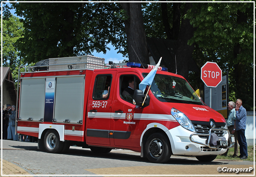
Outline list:
[[[223,131],[227,131],[229,133],[229,142],[226,143],[227,141],[223,141],[223,137],[219,137],[218,140],[213,140],[214,143],[212,143],[213,141],[211,140],[213,134],[215,134],[214,132],[212,132],[212,130],[223,130]],[[198,141],[194,141],[192,140],[192,136],[195,136],[195,135],[201,135],[201,136],[208,136],[208,141],[207,141],[207,144],[205,143],[202,143],[202,142],[198,142]],[[216,134],[215,134],[216,135]],[[216,135],[217,136],[217,135]],[[230,132],[228,129],[216,129],[216,128],[212,128],[210,129],[209,133],[208,134],[202,134],[202,133],[193,133],[189,136],[189,139],[191,142],[194,142],[194,143],[197,143],[197,144],[200,144],[200,145],[203,145],[203,146],[207,146],[211,149],[219,149],[219,148],[224,148],[224,149],[229,149],[231,148],[233,145],[234,145],[234,135],[230,135]],[[232,139],[232,140],[231,140]],[[211,146],[210,144],[216,144],[215,146]],[[230,146],[228,146],[228,144]]]

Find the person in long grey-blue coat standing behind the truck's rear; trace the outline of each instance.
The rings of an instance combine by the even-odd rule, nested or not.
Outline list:
[[[8,127],[8,135],[7,139],[13,139],[14,141],[18,140],[18,134],[16,133],[15,124],[16,124],[16,107],[12,105],[12,112],[8,112],[9,114],[9,127]],[[16,133],[16,135],[15,135]]]

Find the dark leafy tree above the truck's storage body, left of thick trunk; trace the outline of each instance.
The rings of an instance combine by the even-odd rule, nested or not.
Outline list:
[[[106,53],[108,43],[123,51],[125,33],[114,15],[119,3],[13,3],[23,17],[20,56],[27,62],[47,58]]]

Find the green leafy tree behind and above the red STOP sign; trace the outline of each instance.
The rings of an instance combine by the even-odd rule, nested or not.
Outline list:
[[[253,3],[202,3],[186,18],[197,27],[189,44],[196,43],[197,64],[218,63],[223,74],[229,72],[229,99],[243,100],[247,110],[253,106]],[[234,94],[235,93],[235,94]]]

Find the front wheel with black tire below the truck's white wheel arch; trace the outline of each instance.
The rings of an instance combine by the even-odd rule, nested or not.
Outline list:
[[[154,133],[148,137],[145,153],[152,163],[166,163],[171,157],[171,144],[166,135]]]

